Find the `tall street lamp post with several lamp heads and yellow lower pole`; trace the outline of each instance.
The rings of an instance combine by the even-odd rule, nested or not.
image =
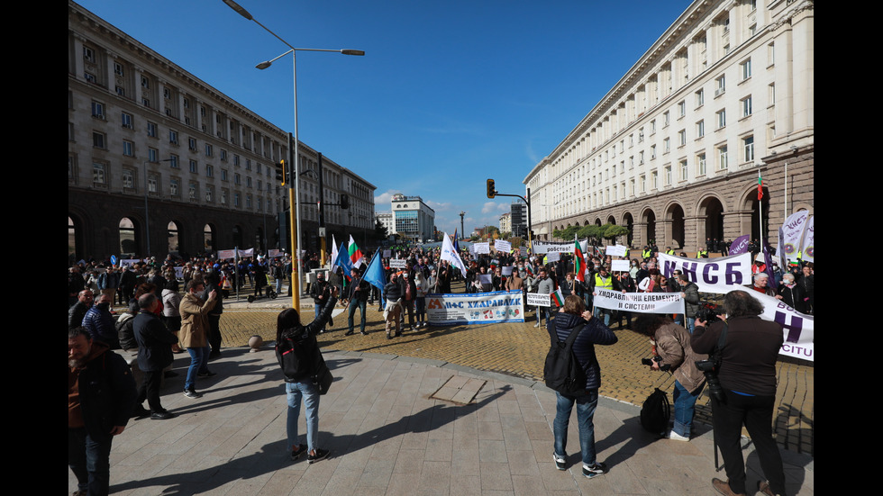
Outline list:
[[[291,289],[291,304],[297,311],[300,311],[300,275],[298,273],[299,268],[300,268],[300,263],[301,263],[300,250],[298,249],[301,246],[301,239],[300,239],[300,234],[301,234],[300,233],[300,179],[298,177],[298,171],[300,170],[300,154],[298,153],[298,148],[299,148],[298,144],[300,143],[300,140],[298,140],[298,135],[297,135],[297,57],[296,57],[296,52],[298,50],[300,50],[300,51],[336,51],[336,52],[341,53],[343,55],[357,55],[357,56],[365,55],[365,52],[362,50],[296,49],[290,43],[288,43],[287,41],[280,38],[278,36],[278,34],[270,31],[267,26],[259,23],[258,20],[255,19],[254,17],[252,17],[251,14],[249,13],[249,11],[245,10],[245,8],[243,8],[241,5],[237,4],[233,0],[223,0],[223,3],[230,6],[230,8],[232,8],[234,11],[236,11],[237,14],[240,14],[242,17],[248,19],[249,21],[254,21],[254,23],[258,24],[261,28],[263,28],[264,31],[272,34],[274,37],[276,37],[276,39],[278,41],[282,41],[290,49],[287,52],[283,53],[282,55],[279,55],[277,58],[267,60],[266,62],[261,62],[255,67],[259,68],[259,69],[269,68],[270,65],[273,64],[273,62],[285,57],[289,53],[291,54],[292,91],[294,94],[294,107],[295,107],[295,109],[294,109],[294,111],[295,111],[295,140],[292,145],[292,147],[294,148],[294,160],[292,161],[292,164],[293,164],[293,169],[294,169],[293,180],[295,183],[295,198],[294,198],[294,202],[291,202],[289,200],[289,203],[291,203],[292,209],[295,209],[295,208],[297,209],[296,212],[292,213],[292,230],[296,230],[297,234],[296,235],[292,234],[292,237],[291,237],[291,245],[292,245],[291,250],[292,250],[293,257],[295,257],[295,263],[293,263],[291,265],[292,266],[291,284],[294,285],[294,287],[292,287],[292,289]],[[291,150],[289,149],[289,153],[290,153],[290,151]]]

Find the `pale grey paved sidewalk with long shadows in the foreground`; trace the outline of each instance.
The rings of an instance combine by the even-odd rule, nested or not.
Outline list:
[[[204,395],[182,393],[189,360],[162,389],[169,420],[132,420],[114,439],[114,494],[714,494],[712,436],[697,426],[692,442],[643,431],[639,409],[602,398],[596,446],[610,472],[580,471],[576,414],[569,428],[570,468],[552,463],[555,395],[527,379],[405,356],[330,352],[335,382],[319,408],[319,444],[331,456],[292,462],[286,452],[286,398],[272,348],[223,349],[200,379]],[[476,389],[469,404],[432,399],[451,377]],[[472,381],[469,381],[472,379]],[[469,384],[466,386],[464,384]],[[302,410],[303,412],[303,410]],[[303,413],[302,413],[303,416]],[[300,421],[305,434],[304,419]],[[757,456],[745,450],[749,487],[760,480]],[[788,494],[815,493],[814,460],[782,451]],[[68,469],[68,492],[76,479]],[[749,491],[752,494],[754,491]]]

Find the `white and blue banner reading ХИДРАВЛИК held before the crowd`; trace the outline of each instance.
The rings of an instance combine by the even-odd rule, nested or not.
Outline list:
[[[518,290],[427,294],[426,315],[433,326],[523,322],[523,295]]]

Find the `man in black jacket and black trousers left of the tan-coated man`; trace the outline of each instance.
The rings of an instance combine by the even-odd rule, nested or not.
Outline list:
[[[146,399],[150,405],[150,419],[165,420],[174,418],[175,414],[162,408],[159,402],[159,386],[162,383],[163,369],[175,361],[172,345],[178,342],[178,336],[172,334],[166,324],[159,320],[156,314],[158,306],[159,300],[155,294],[142,294],[138,299],[141,311],[135,316],[132,328],[138,342],[138,368],[144,373],[138,389],[138,405],[141,407],[139,412],[146,413],[141,406]]]

